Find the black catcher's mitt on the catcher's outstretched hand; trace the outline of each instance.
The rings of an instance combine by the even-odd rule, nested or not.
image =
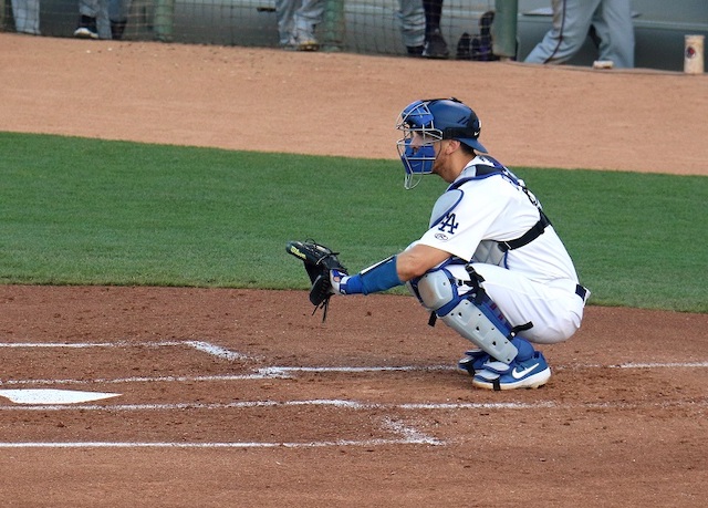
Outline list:
[[[312,313],[314,314],[317,309],[322,308],[322,321],[324,321],[327,317],[330,298],[334,294],[330,281],[330,270],[347,273],[346,268],[336,257],[339,252],[334,252],[314,240],[289,241],[285,250],[304,263],[310,282],[312,282],[312,289],[310,289],[310,301],[314,305]]]

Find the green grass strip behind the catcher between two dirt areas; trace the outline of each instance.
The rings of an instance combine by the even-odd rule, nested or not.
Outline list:
[[[304,289],[285,241],[360,270],[426,229],[445,183],[397,160],[0,133],[0,282]],[[592,304],[708,312],[708,178],[529,169]]]

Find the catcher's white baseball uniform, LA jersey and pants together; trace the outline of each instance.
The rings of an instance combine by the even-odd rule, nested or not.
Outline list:
[[[478,175],[478,168],[492,170]],[[472,262],[481,283],[512,325],[531,321],[520,333],[533,342],[570,338],[580,326],[584,299],[576,294],[577,274],[565,246],[548,225],[528,243],[502,252],[498,242],[523,237],[540,220],[535,197],[493,158],[477,156],[438,199],[430,229],[419,243]],[[485,173],[481,172],[480,173]],[[464,265],[447,267],[469,279]]]

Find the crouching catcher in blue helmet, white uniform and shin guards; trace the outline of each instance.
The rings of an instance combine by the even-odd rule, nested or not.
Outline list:
[[[397,128],[404,187],[414,188],[424,175],[437,175],[448,187],[419,239],[358,273],[332,265],[327,284],[321,256],[293,245],[302,252],[291,253],[311,256],[317,267],[312,302],[406,284],[430,313],[429,324],[440,320],[472,344],[457,363],[472,386],[544,385],[551,367],[533,344],[570,339],[590,294],[551,220],[524,182],[487,155],[481,122],[460,101],[415,101]]]

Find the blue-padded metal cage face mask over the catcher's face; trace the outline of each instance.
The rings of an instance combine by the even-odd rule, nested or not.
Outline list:
[[[433,173],[435,143],[442,139],[442,132],[433,125],[428,101],[416,101],[400,112],[396,128],[403,137],[396,146],[406,170],[404,187],[412,189],[420,183],[423,175]]]

